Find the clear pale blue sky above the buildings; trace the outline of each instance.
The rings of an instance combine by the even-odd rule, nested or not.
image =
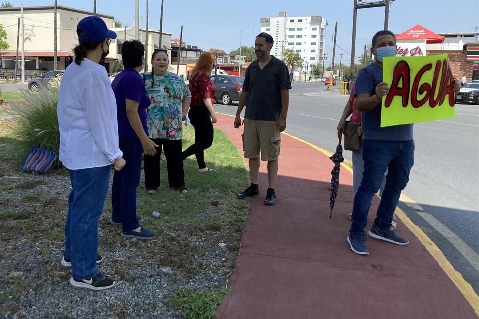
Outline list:
[[[4,0],[0,0],[2,2]],[[372,1],[372,0],[368,0]],[[53,0],[9,0],[14,6],[53,5]],[[160,0],[149,0],[149,27],[160,26]],[[163,31],[180,37],[200,48],[224,49],[226,52],[240,46],[240,30],[244,29],[242,44],[251,46],[260,32],[260,18],[278,16],[320,15],[326,28],[326,53],[331,63],[334,23],[338,22],[336,64],[351,59],[352,8],[354,0],[164,0]],[[58,5],[93,11],[93,0],[58,0]],[[116,20],[132,26],[135,20],[135,0],[97,0],[97,12],[112,15]],[[146,1],[140,0],[140,16],[145,25]],[[416,24],[433,32],[474,32],[479,26],[479,0],[395,0],[391,4],[389,29],[397,34]],[[358,11],[356,59],[363,52],[373,34],[384,26],[384,7]],[[1,22],[0,22],[1,23]],[[53,46],[53,44],[52,44]],[[346,62],[347,64],[347,62]]]

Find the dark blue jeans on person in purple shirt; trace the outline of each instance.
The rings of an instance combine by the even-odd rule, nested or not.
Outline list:
[[[140,226],[136,218],[136,189],[140,184],[143,146],[138,138],[120,138],[125,167],[115,171],[111,186],[111,219],[121,222],[124,232]]]

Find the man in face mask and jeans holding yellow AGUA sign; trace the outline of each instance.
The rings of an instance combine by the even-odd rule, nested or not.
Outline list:
[[[409,243],[391,230],[391,221],[414,164],[412,123],[448,117],[451,109],[454,115],[450,102],[454,105],[454,92],[460,89],[450,73],[447,56],[436,56],[437,63],[427,62],[422,66],[410,62],[423,59],[420,57],[394,58],[396,36],[391,31],[379,31],[373,36],[371,53],[376,58],[359,71],[354,89],[361,111],[364,173],[354,197],[353,222],[347,241],[351,250],[360,255],[369,255],[364,229],[372,198],[386,169],[386,185],[368,234],[397,245]],[[383,74],[387,82],[383,82]],[[444,114],[436,114],[440,109]]]

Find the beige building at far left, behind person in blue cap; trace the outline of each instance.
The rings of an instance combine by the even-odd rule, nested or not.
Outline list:
[[[74,8],[57,7],[57,57],[58,69],[65,69],[71,63],[73,48],[78,44],[76,25],[92,12]],[[109,28],[114,26],[114,17],[97,14]],[[0,21],[7,34],[9,49],[1,52],[3,60],[2,71],[12,71],[15,68],[16,45],[18,35],[18,19],[21,18],[21,8],[0,8]],[[33,72],[38,74],[53,70],[54,55],[54,8],[53,6],[36,6],[23,8],[24,20],[24,50],[25,74],[30,77]],[[20,19],[21,23],[21,19]],[[21,28],[20,28],[21,32]],[[21,34],[20,34],[21,41]],[[112,44],[116,45],[113,40]],[[116,52],[115,52],[116,53]],[[21,42],[19,43],[19,65],[21,69]],[[107,57],[107,70],[112,69],[117,56],[110,54]]]

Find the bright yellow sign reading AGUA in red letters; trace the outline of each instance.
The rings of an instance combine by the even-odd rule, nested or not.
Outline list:
[[[381,127],[455,117],[454,77],[447,54],[385,57]]]

